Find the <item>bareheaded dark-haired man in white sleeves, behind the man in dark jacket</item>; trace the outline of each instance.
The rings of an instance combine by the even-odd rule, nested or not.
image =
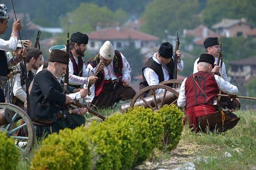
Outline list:
[[[28,54],[26,57],[26,68],[29,86],[36,76],[36,73],[31,69],[37,70],[39,68],[42,58],[42,51],[34,47],[27,48],[26,51]],[[5,86],[5,100],[7,103],[13,103],[24,109],[24,103],[27,99],[24,64],[23,62],[20,62],[14,67],[16,67],[15,70],[19,70],[20,73],[15,74],[7,81]]]

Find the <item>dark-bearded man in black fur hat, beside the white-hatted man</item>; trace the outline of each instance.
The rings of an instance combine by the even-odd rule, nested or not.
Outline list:
[[[88,36],[76,32],[71,35],[69,44],[69,85],[80,88],[83,84],[94,84],[98,79],[86,70],[84,65],[84,51],[87,49]]]

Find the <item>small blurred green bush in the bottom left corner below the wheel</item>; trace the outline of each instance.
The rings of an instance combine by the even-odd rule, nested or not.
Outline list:
[[[20,157],[20,152],[12,138],[8,138],[6,132],[0,131],[0,169],[16,169]]]

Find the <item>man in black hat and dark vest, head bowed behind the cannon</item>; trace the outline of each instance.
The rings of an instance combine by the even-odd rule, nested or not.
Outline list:
[[[183,61],[181,60],[180,50],[176,51],[177,70],[183,70]],[[158,52],[152,55],[142,67],[142,82],[140,82],[140,90],[149,85],[157,85],[162,81],[173,79],[174,60],[173,60],[172,44],[164,42],[161,44]],[[164,92],[164,89],[157,89],[157,93]],[[148,92],[143,95],[146,96]]]

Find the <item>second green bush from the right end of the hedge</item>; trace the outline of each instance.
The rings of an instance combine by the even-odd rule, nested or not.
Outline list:
[[[137,144],[133,166],[137,166],[148,159],[155,146],[160,143],[163,120],[159,113],[153,113],[150,108],[144,107],[128,109],[123,119],[133,126]]]

